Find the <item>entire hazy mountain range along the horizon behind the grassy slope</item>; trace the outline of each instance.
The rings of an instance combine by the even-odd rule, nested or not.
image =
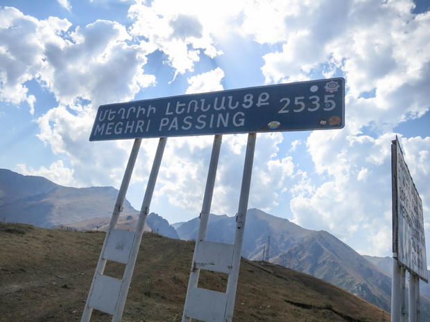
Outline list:
[[[68,226],[103,231],[109,225],[117,193],[118,190],[112,187],[68,188],[43,177],[0,170],[0,219],[44,228]],[[119,228],[134,229],[138,215],[130,203],[124,202]],[[196,217],[189,222],[170,225],[151,213],[146,220],[146,231],[194,240],[198,222]],[[206,238],[232,243],[234,227],[235,217],[211,214]],[[392,259],[363,257],[326,231],[304,229],[289,220],[249,209],[242,256],[258,261],[268,258],[273,264],[321,278],[390,311],[391,278],[387,263]],[[421,315],[423,319],[425,317],[424,321],[430,321],[427,297],[430,292],[426,287],[421,289]]]

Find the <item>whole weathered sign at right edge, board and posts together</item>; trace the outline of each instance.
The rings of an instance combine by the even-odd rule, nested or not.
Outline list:
[[[391,145],[393,184],[393,285],[391,321],[420,321],[420,279],[427,283],[427,256],[422,201],[397,138]],[[406,316],[406,270],[409,303]]]

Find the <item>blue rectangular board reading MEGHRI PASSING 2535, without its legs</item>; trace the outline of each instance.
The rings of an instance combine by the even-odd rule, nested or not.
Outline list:
[[[331,78],[101,105],[89,141],[344,125],[345,80]]]

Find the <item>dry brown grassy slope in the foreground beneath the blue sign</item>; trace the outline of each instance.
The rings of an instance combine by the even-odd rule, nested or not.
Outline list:
[[[0,224],[0,321],[79,321],[105,233]],[[180,321],[193,242],[144,234],[124,322]],[[106,274],[119,277],[109,262]],[[222,274],[200,286],[225,290]],[[94,311],[92,321],[110,321]],[[234,321],[390,321],[390,314],[309,275],[243,260]]]

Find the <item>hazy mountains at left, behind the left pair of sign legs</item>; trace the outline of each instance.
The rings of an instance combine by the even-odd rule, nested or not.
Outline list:
[[[43,177],[24,176],[0,169],[0,220],[51,228],[106,231],[119,191],[113,187],[69,188]],[[134,230],[139,211],[124,201],[118,228]],[[146,231],[170,238],[178,233],[155,213],[146,219]]]

